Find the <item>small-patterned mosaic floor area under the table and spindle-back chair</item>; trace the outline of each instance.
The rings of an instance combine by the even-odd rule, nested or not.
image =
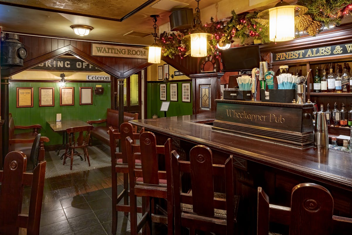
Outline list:
[[[74,172],[87,171],[95,168],[111,166],[110,149],[108,146],[100,145],[88,146],[90,166],[88,166],[88,161],[84,161],[84,155],[82,154],[83,161],[81,161],[79,156],[74,156],[72,170],[70,170],[71,159],[67,158],[65,165],[63,164],[63,159],[60,159],[63,150],[60,151],[60,155],[56,155],[55,151],[49,151],[45,153],[46,169],[45,178],[56,177],[59,175],[71,174]],[[78,149],[78,152],[83,152],[83,150]]]

